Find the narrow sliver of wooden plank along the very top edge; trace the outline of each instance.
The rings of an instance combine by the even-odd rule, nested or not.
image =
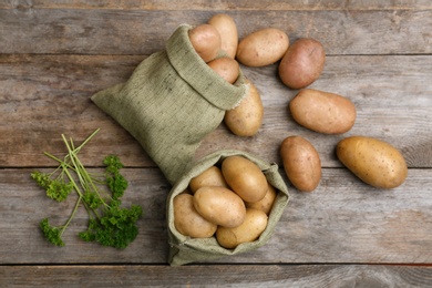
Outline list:
[[[397,9],[430,9],[428,0],[362,0],[362,1],[321,1],[309,0],[70,0],[70,1],[8,1],[0,3],[0,9],[124,9],[124,10],[397,10]]]

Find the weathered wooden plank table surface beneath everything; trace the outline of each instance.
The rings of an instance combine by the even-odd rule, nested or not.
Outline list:
[[[307,3],[306,3],[307,2]],[[357,106],[353,128],[322,135],[287,111],[297,91],[277,78],[277,64],[245,68],[265,105],[259,133],[241,138],[222,124],[196,152],[255,153],[281,166],[289,135],[320,153],[322,179],[312,193],[287,181],[291,199],[271,239],[258,250],[214,263],[167,265],[165,199],[171,189],[138,143],[90,96],[127,80],[164,49],[181,23],[232,16],[240,38],[260,28],[286,31],[291,43],[320,40],[325,70],[311,88],[339,93]],[[432,3],[418,1],[1,1],[0,2],[0,286],[1,287],[431,287],[432,286]],[[65,247],[38,228],[59,222],[74,203],[45,197],[30,178],[64,154],[61,134],[81,142],[101,128],[81,157],[97,171],[103,155],[126,165],[125,202],[143,206],[140,235],[124,250],[76,237],[79,210]],[[403,185],[380,191],[341,166],[335,145],[349,135],[390,142],[404,155]],[[280,169],[281,173],[282,169]]]

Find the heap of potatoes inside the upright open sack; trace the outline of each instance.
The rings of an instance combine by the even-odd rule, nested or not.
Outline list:
[[[277,191],[250,160],[234,155],[192,178],[173,199],[175,228],[192,238],[216,237],[232,249],[267,227]]]

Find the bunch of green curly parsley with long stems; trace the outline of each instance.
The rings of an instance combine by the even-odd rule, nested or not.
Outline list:
[[[39,224],[43,236],[53,245],[64,246],[62,235],[80,205],[83,205],[89,214],[86,230],[79,233],[79,237],[83,240],[97,241],[104,246],[123,249],[138,234],[136,222],[142,215],[142,207],[138,205],[131,205],[130,208],[121,207],[121,197],[127,188],[127,181],[120,173],[123,164],[119,157],[109,155],[104,158],[105,173],[102,175],[90,174],[78,157],[81,148],[99,130],[93,132],[78,147],[74,146],[72,138],[68,141],[62,135],[68,148],[64,158],[60,160],[52,154],[44,153],[56,161],[59,166],[52,173],[40,171],[31,173],[31,177],[47,192],[47,196],[54,200],[65,200],[72,191],[78,194],[75,206],[63,225],[53,226],[48,218]]]

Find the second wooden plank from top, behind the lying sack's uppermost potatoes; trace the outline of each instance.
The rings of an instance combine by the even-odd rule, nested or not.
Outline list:
[[[151,54],[215,10],[1,9],[0,53]],[[432,10],[232,10],[243,38],[275,27],[327,54],[429,54]],[[37,44],[35,44],[37,43]],[[401,45],[403,43],[403,45]]]

